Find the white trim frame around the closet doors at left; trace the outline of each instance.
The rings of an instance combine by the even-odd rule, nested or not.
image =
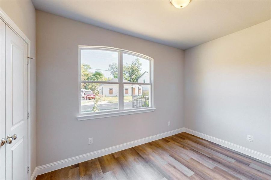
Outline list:
[[[0,19],[2,19],[5,24],[10,27],[26,44],[27,44],[27,57],[31,57],[31,53],[30,53],[30,44],[31,41],[26,37],[26,35],[20,30],[20,28],[8,17],[8,15],[2,10],[2,8],[0,7]],[[31,67],[31,63],[28,64],[27,66],[27,81],[28,81],[28,85],[27,85],[27,111],[30,112],[31,114],[31,106],[30,106],[30,67]],[[27,133],[28,133],[28,138],[27,138],[27,143],[28,143],[28,166],[29,166],[29,173],[28,173],[28,179],[30,179],[30,174],[31,174],[31,159],[30,159],[30,155],[31,155],[31,131],[30,131],[30,127],[31,127],[31,116],[29,115],[29,118],[27,119]]]

